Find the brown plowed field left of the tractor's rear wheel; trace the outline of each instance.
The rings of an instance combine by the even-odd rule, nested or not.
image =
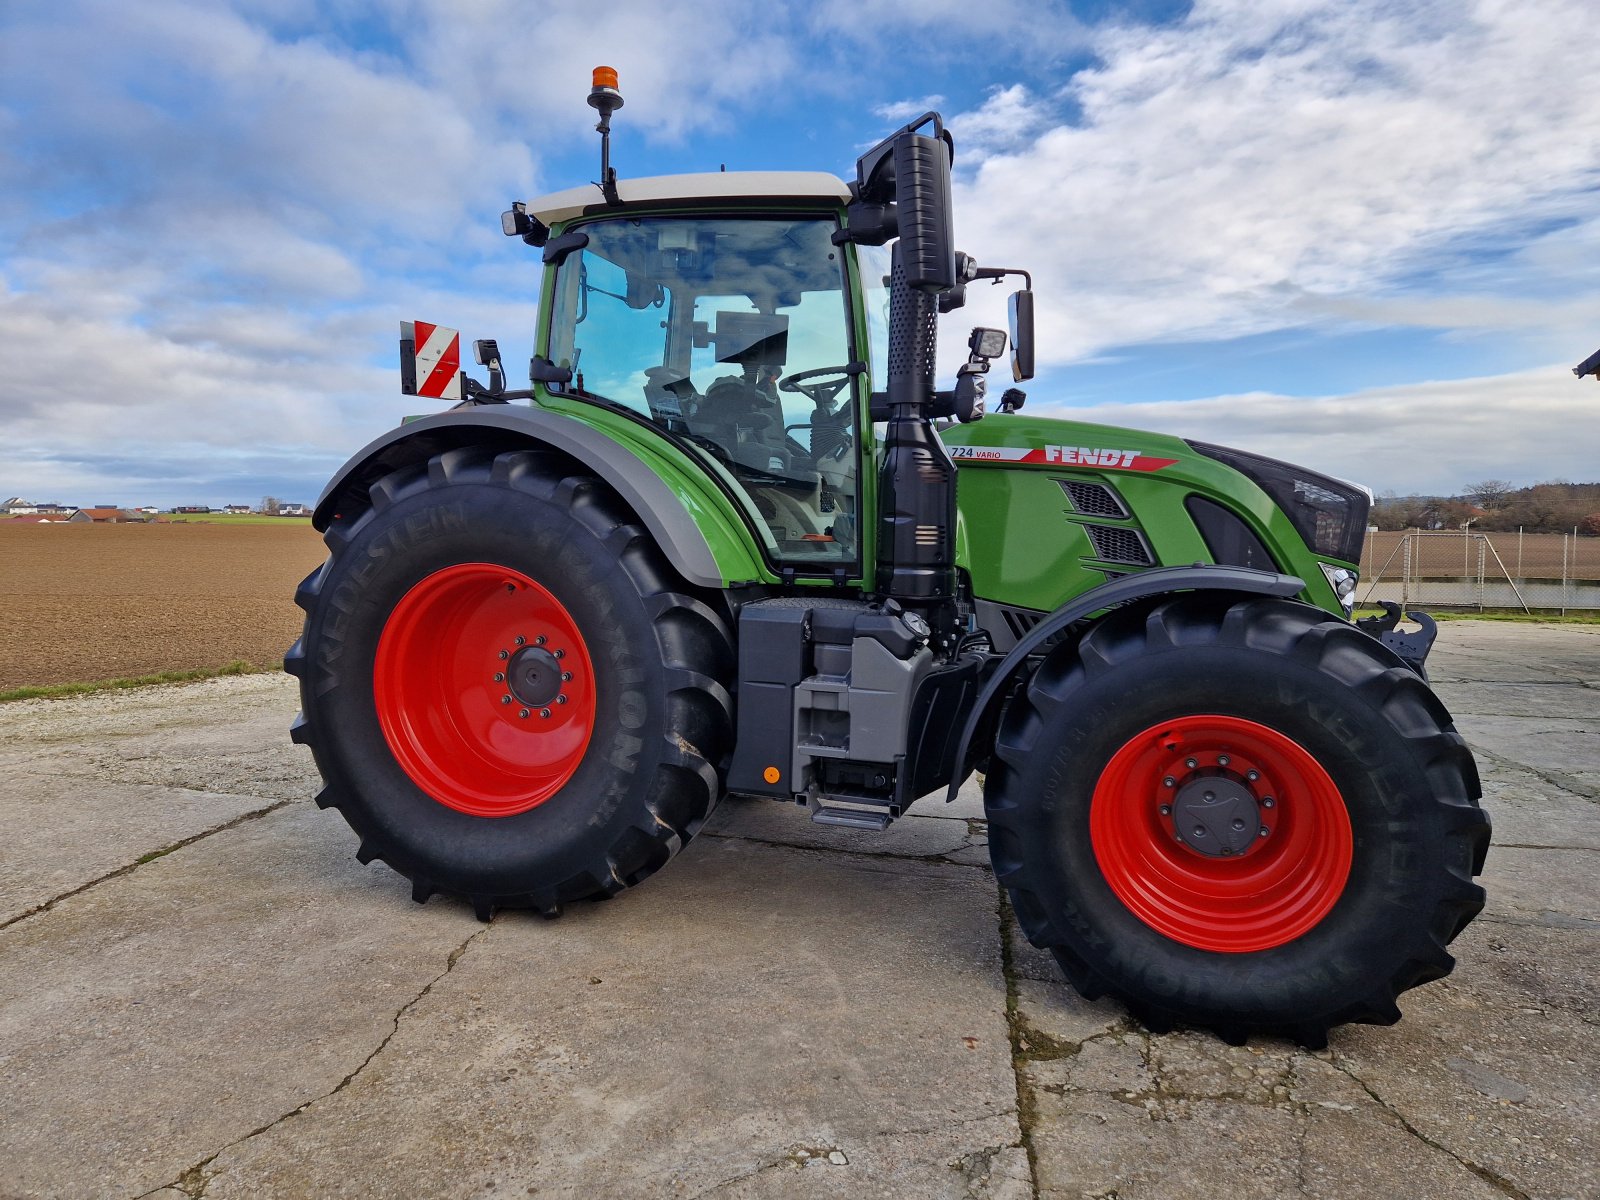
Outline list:
[[[310,522],[0,525],[0,691],[162,670],[274,666],[294,587],[323,560]]]

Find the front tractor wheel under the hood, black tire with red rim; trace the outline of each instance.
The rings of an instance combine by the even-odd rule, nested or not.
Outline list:
[[[1029,941],[1150,1029],[1394,1024],[1483,907],[1472,755],[1379,642],[1189,594],[1058,646],[1000,720],[990,854]]]

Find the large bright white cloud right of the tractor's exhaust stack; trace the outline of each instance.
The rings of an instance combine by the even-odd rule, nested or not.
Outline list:
[[[1045,363],[1299,325],[1448,272],[1477,232],[1592,210],[1600,90],[1566,45],[1587,16],[1211,0],[1098,30],[1059,98],[1010,86],[950,118],[962,240],[1032,264]],[[1046,128],[997,146],[1030,110]]]

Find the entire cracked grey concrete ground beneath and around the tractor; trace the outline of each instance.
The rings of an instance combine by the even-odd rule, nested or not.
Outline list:
[[[1320,1053],[1077,998],[971,790],[733,802],[480,925],[355,862],[286,678],[0,706],[0,1195],[1600,1197],[1600,627],[1451,622],[1434,674],[1490,906]]]

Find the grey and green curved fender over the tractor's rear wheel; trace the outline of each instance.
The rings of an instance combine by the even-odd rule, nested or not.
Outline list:
[[[542,448],[570,456],[603,480],[650,530],[662,554],[691,584],[726,587],[763,579],[760,550],[739,517],[693,480],[672,478],[645,454],[571,416],[541,408],[485,405],[411,421],[363,446],[323,488],[312,523],[326,530],[349,498],[365,501],[366,488],[397,467],[470,445],[499,450]],[[726,514],[718,509],[728,509]],[[720,526],[707,538],[696,520]]]

